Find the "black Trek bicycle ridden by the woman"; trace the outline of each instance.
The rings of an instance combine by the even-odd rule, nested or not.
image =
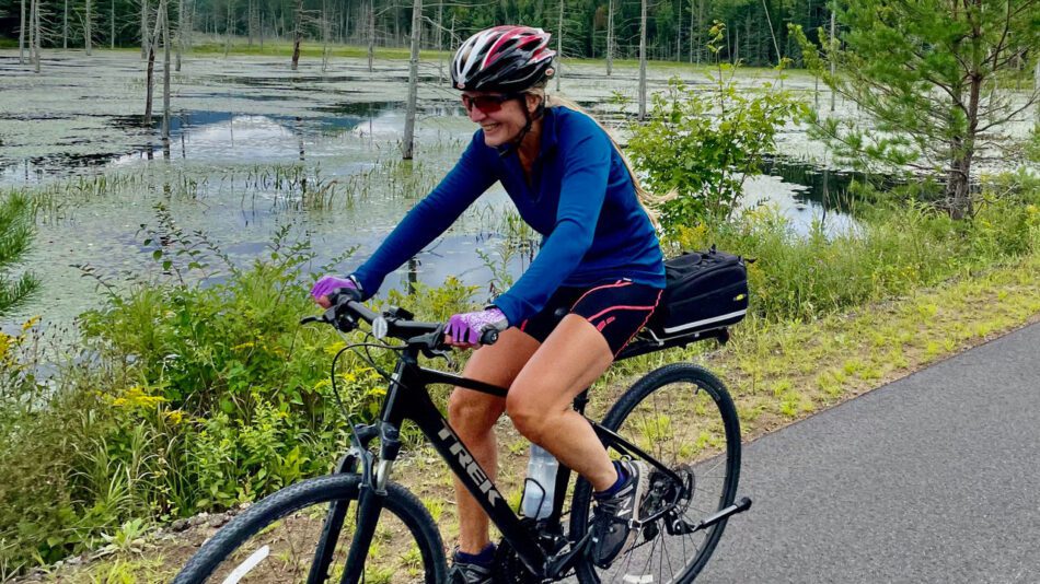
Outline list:
[[[725,386],[700,366],[665,365],[626,390],[601,423],[590,420],[613,456],[638,457],[650,469],[647,494],[640,502],[642,518],[633,525],[639,536],[610,567],[594,567],[587,557],[591,486],[578,477],[569,511],[565,511],[571,471],[561,464],[548,517],[518,516],[438,411],[427,385],[462,386],[501,397],[506,389],[420,366],[420,355],[443,354],[443,324],[413,318],[403,308],[378,314],[339,296],[321,317],[303,319],[342,331],[365,322],[379,343],[357,346],[398,351],[393,373],[383,372],[389,387],[379,418],[370,424],[349,424],[351,447],[332,475],[277,491],[234,517],[203,545],[175,584],[446,582],[444,546],[436,522],[412,492],[390,480],[405,420],[418,427],[501,533],[496,582],[550,582],[571,576],[581,583],[690,582],[715,550],[727,519],[751,506],[748,498],[733,502],[740,429]],[[385,344],[388,338],[404,344]],[[482,341],[489,344],[496,338],[496,331],[486,331]],[[668,341],[639,335],[619,359],[712,338],[725,342],[728,330],[718,328]],[[574,407],[583,414],[587,404],[588,389],[575,399]],[[373,446],[377,437],[378,448]],[[682,437],[692,442],[680,444]],[[351,503],[354,512],[348,513]],[[402,541],[408,539],[413,545],[405,548]]]

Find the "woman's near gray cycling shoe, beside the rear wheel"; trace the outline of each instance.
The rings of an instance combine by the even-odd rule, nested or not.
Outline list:
[[[608,568],[621,550],[635,542],[638,529],[629,527],[639,519],[647,469],[639,460],[622,460],[628,480],[610,499],[597,500],[592,510],[592,563]]]

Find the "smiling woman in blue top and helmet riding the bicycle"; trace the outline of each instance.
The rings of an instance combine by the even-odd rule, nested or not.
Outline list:
[[[647,323],[665,288],[663,258],[636,177],[610,136],[573,104],[547,96],[555,52],[550,34],[496,26],[455,52],[451,79],[479,125],[443,180],[349,277],[326,276],[312,295],[334,291],[365,300],[383,279],[444,230],[488,187],[501,182],[520,215],[543,235],[516,284],[483,311],[457,314],[446,340],[479,349],[464,376],[508,387],[506,398],[457,387],[449,419],[495,480],[494,424],[502,412],[531,442],[585,477],[596,490],[591,559],[609,564],[634,537],[646,468],[611,462],[573,400]],[[500,331],[481,346],[488,329]],[[488,517],[455,481],[460,541],[452,579],[490,582],[495,547]]]

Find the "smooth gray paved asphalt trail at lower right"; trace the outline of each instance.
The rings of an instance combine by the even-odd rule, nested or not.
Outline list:
[[[713,583],[1040,583],[1040,324],[746,444]]]

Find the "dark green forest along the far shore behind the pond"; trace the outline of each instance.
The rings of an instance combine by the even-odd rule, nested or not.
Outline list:
[[[0,1],[0,37],[16,38],[22,7],[33,0]],[[158,0],[152,0],[154,4]],[[41,17],[49,34],[45,47],[82,47],[88,22],[94,46],[130,46],[141,42],[141,14],[149,0],[41,0]],[[183,5],[182,5],[183,4]],[[412,3],[385,0],[185,0],[170,3],[173,22],[185,30],[233,35],[247,46],[290,37],[296,14],[305,14],[305,34],[340,44],[406,47],[412,35]],[[183,13],[181,11],[183,10]],[[800,48],[788,24],[800,25],[816,39],[831,9],[822,0],[660,0],[647,7],[647,57],[701,63],[714,21],[730,32],[720,56],[752,66],[776,65],[778,57],[800,61]],[[177,19],[186,19],[178,21]],[[426,2],[423,48],[447,49],[450,38],[509,22],[563,30],[564,58],[638,58],[642,3],[637,0],[455,0]],[[561,26],[562,25],[562,26]],[[146,33],[147,35],[147,33]],[[554,38],[556,43],[559,38]]]

